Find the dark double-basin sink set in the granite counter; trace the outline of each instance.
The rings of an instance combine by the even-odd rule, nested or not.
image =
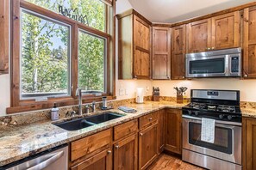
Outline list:
[[[121,118],[122,116],[125,115],[118,114],[116,112],[105,112],[103,114],[97,114],[87,118],[72,119],[65,122],[53,124],[67,131],[77,131],[86,127],[90,127],[91,125],[101,124],[103,122],[108,122],[109,120]]]

